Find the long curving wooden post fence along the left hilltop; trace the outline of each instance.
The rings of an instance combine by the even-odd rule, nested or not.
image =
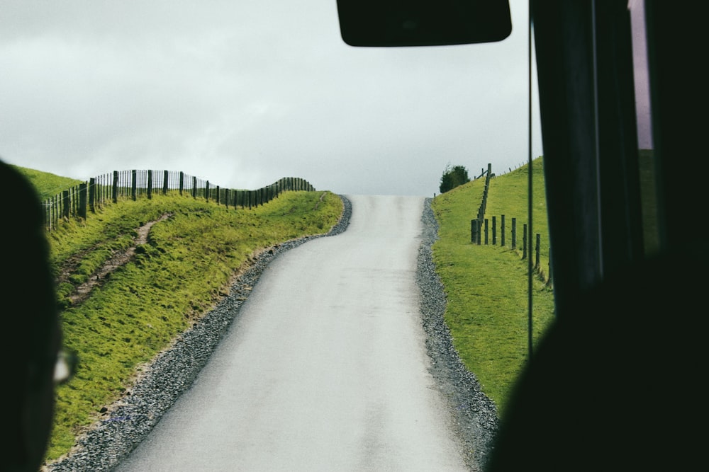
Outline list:
[[[315,188],[307,180],[295,177],[281,178],[257,190],[233,190],[221,188],[209,180],[184,172],[113,171],[98,175],[45,200],[45,227],[52,231],[60,221],[68,221],[71,218],[86,219],[89,214],[105,205],[118,203],[120,200],[152,198],[152,195],[156,194],[179,193],[212,200],[217,205],[251,209],[264,205],[289,190],[314,191]]]

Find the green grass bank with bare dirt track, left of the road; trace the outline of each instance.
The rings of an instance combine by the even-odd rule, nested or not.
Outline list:
[[[322,198],[322,201],[320,199]],[[78,306],[67,296],[113,251],[130,246],[135,230],[162,214],[135,258],[113,272]],[[48,460],[65,454],[101,407],[121,396],[140,364],[228,292],[235,274],[264,248],[323,234],[342,214],[330,192],[285,192],[252,210],[217,206],[177,195],[107,205],[86,221],[49,234],[55,275],[70,268],[58,287],[65,345],[81,359],[77,375],[57,389]]]

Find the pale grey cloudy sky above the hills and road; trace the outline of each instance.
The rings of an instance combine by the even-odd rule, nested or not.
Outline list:
[[[342,42],[335,0],[2,0],[0,158],[430,196],[449,163],[527,160],[527,0],[510,5],[502,42],[379,49]]]

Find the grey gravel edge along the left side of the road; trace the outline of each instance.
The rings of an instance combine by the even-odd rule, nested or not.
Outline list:
[[[306,236],[277,244],[259,255],[255,263],[232,285],[228,297],[179,335],[143,369],[143,375],[123,398],[110,405],[104,418],[94,423],[77,439],[66,456],[43,471],[111,471],[145,439],[162,415],[177,401],[196,379],[231,323],[238,318],[240,306],[250,294],[264,269],[279,254],[312,239],[335,236],[347,229],[352,216],[352,203],[338,195],[344,205],[340,220],[327,234]]]

